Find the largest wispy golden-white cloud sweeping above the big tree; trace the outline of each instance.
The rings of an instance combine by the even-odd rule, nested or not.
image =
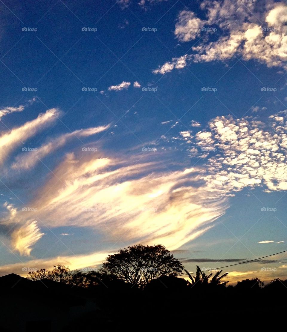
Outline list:
[[[225,199],[216,198],[208,187],[185,184],[196,181],[195,170],[158,172],[157,163],[123,162],[68,154],[36,200],[28,203],[36,213],[20,209],[14,220],[39,218],[48,227],[91,227],[106,240],[176,249],[213,227],[212,221],[227,208]]]

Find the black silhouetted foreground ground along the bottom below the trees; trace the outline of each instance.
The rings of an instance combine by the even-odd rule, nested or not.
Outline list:
[[[1,331],[210,330],[286,325],[285,282],[265,288],[251,284],[196,288],[177,280],[167,277],[140,290],[124,283],[80,288],[7,275],[0,278]]]

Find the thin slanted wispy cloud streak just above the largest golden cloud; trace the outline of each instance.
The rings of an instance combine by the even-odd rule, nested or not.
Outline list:
[[[16,158],[16,162],[12,165],[12,168],[18,170],[21,169],[29,170],[32,167],[34,167],[41,159],[50,154],[52,151],[55,151],[57,148],[60,148],[63,145],[65,145],[68,140],[72,138],[79,139],[79,137],[88,137],[90,135],[95,135],[99,132],[108,129],[109,127],[110,125],[92,127],[87,129],[79,129],[67,134],[63,134],[53,139],[49,143],[41,145],[35,151],[24,152],[24,154]]]

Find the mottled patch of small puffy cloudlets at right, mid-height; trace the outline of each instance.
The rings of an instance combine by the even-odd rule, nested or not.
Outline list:
[[[205,160],[202,179],[229,195],[245,187],[287,190],[287,111],[257,117],[216,117],[203,130],[181,131],[191,157]]]

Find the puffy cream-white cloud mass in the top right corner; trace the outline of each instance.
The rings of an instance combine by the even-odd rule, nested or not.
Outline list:
[[[206,12],[207,20],[183,10],[175,24],[174,34],[179,41],[200,38],[198,44],[192,46],[192,54],[184,55],[186,64],[190,61],[227,62],[237,56],[245,61],[256,60],[267,67],[287,69],[287,4],[205,0],[200,9]],[[172,58],[153,73],[165,74],[179,69],[174,64],[181,58]]]

